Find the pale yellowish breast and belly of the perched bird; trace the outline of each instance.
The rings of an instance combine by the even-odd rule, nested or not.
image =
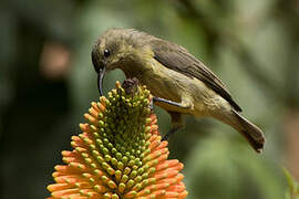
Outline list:
[[[207,115],[208,106],[213,104],[215,92],[209,90],[202,81],[192,78],[183,73],[171,70],[155,59],[135,65],[132,72],[125,72],[127,77],[137,77],[140,83],[146,85],[154,96],[182,103],[187,100],[193,109],[176,109],[176,107],[159,103],[168,111],[189,113],[193,115]]]

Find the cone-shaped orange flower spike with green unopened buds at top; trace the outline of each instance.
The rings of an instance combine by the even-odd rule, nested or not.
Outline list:
[[[55,166],[50,198],[185,198],[183,164],[167,160],[150,100],[145,87],[126,94],[116,82],[107,98],[93,102],[74,149],[62,151],[66,165]]]

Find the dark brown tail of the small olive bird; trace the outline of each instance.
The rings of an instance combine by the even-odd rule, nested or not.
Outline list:
[[[235,127],[248,140],[257,153],[261,153],[265,145],[264,133],[236,111],[233,109],[233,113],[235,118],[237,118],[237,123],[235,123],[233,127]]]

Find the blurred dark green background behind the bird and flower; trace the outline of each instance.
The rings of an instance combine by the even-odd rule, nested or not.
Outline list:
[[[298,0],[2,0],[0,2],[0,198],[45,198],[60,151],[71,149],[99,98],[91,48],[107,28],[176,42],[226,83],[264,129],[257,155],[233,128],[186,116],[169,140],[190,199],[281,199],[281,166],[299,179]],[[105,77],[105,93],[123,81]],[[169,116],[155,107],[159,130]]]

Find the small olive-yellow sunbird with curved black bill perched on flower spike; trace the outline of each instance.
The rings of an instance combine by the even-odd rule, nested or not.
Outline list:
[[[257,153],[262,151],[264,133],[240,115],[241,108],[220,78],[185,48],[135,29],[109,29],[95,42],[91,54],[100,95],[105,72],[115,69],[146,85],[153,103],[172,118],[172,128],[164,139],[183,127],[182,115],[189,114],[231,126]]]

